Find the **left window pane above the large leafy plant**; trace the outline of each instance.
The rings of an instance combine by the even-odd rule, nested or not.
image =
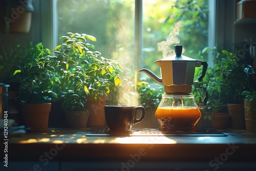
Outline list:
[[[134,56],[134,6],[134,0],[58,1],[58,37],[67,32],[93,35],[97,51],[125,66],[124,59]]]

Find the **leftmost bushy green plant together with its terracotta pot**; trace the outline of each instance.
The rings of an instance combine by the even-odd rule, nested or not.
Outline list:
[[[50,55],[29,60],[14,75],[20,82],[19,100],[23,123],[32,132],[47,131],[53,90],[52,71],[58,60]]]

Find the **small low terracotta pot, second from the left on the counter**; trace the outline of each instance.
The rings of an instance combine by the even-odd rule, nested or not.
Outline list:
[[[89,118],[88,111],[65,111],[66,120],[71,128],[86,128]]]

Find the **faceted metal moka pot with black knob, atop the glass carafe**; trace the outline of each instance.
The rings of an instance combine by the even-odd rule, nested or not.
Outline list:
[[[207,62],[181,55],[182,46],[175,46],[174,56],[156,60],[155,63],[161,68],[161,78],[148,69],[141,69],[159,84],[163,84],[164,92],[172,94],[189,94],[194,84],[196,67],[203,66],[202,74],[198,78],[201,81],[207,70]]]

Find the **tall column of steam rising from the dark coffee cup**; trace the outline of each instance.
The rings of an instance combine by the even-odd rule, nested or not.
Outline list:
[[[124,71],[119,73],[122,80],[122,86],[118,89],[118,92],[114,95],[115,99],[112,99],[113,104],[123,104],[123,105],[139,105],[139,94],[136,92],[137,85],[137,75],[138,71],[134,71],[134,54],[133,47],[131,47],[131,42],[134,41],[134,37],[131,35],[134,34],[133,25],[128,23],[126,16],[119,15],[121,20],[121,25],[118,26],[118,30],[113,37],[114,42],[118,43],[119,49],[112,49],[112,59],[118,61],[123,67]],[[123,18],[122,18],[123,17]],[[110,22],[112,23],[116,22]],[[116,26],[110,26],[116,27]],[[113,45],[111,47],[116,47]]]

